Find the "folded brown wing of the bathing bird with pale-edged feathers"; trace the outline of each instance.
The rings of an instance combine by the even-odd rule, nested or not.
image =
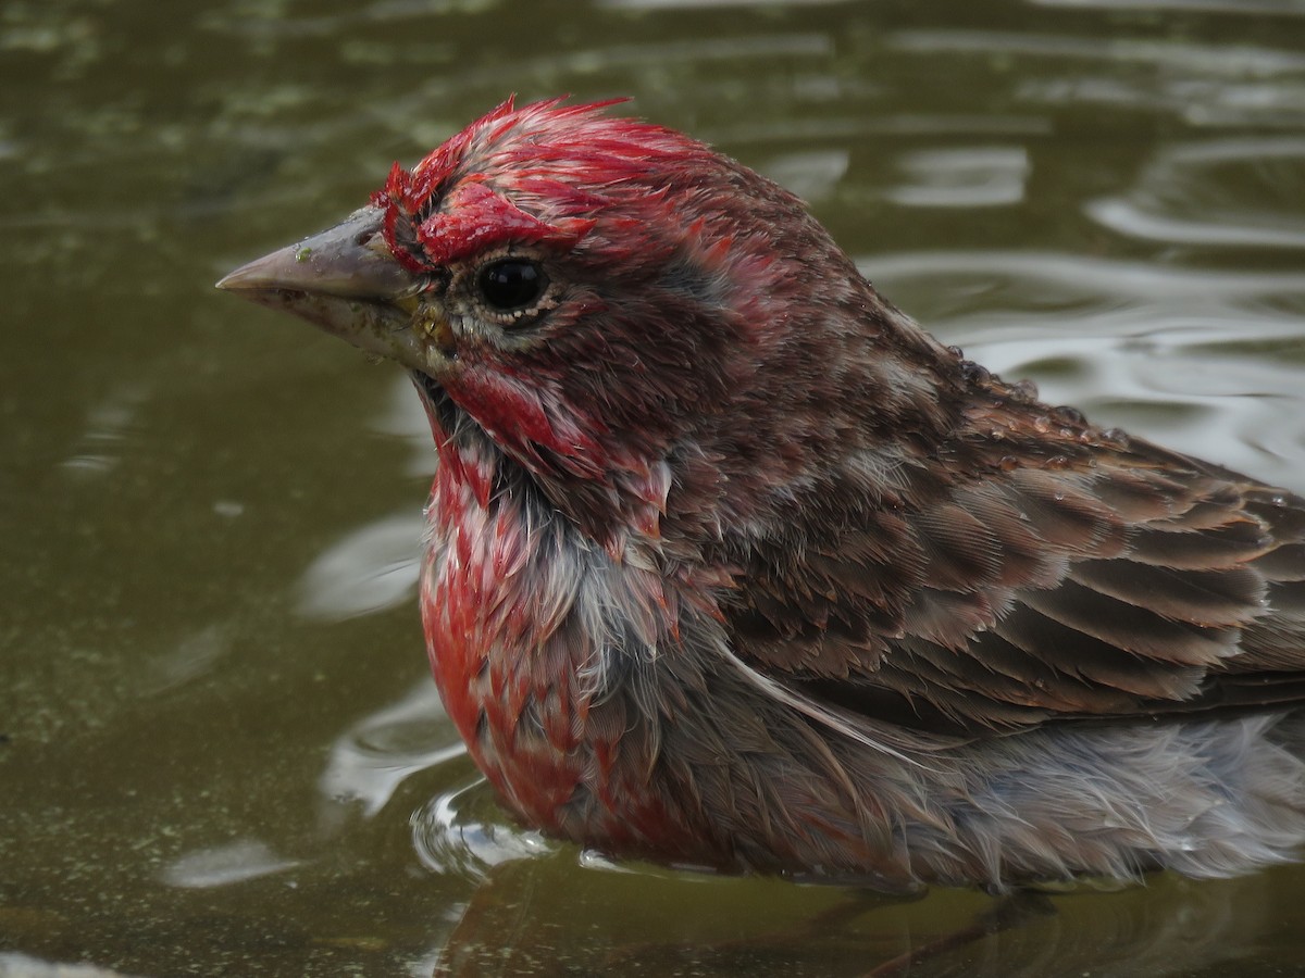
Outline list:
[[[813,486],[813,518],[732,554],[739,655],[949,733],[1305,702],[1305,499],[1035,428],[1007,454],[950,446],[873,501],[851,463]]]

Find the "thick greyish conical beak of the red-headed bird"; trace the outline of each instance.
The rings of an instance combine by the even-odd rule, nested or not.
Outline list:
[[[425,370],[435,352],[431,317],[419,299],[425,283],[394,259],[381,235],[382,216],[380,207],[354,211],[329,231],[240,266],[218,288]]]

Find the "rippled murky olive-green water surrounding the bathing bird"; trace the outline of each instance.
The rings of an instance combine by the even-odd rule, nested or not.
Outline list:
[[[416,621],[414,399],[211,283],[509,91],[634,95],[947,343],[1305,489],[1302,3],[7,0],[0,951],[851,975],[989,906],[834,926],[847,892],[611,866],[479,785]],[[1305,974],[1302,901],[1160,876],[912,974]]]

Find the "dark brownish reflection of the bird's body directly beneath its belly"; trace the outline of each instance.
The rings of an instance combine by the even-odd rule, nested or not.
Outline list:
[[[1148,891],[1035,898],[1011,914],[976,895],[903,902],[713,878],[684,887],[656,872],[576,871],[552,857],[492,867],[438,951],[435,974],[560,974],[559,961],[595,973],[637,965],[646,974],[1206,974],[1265,940],[1272,898],[1263,882],[1159,878]],[[1014,923],[994,927],[994,913]],[[970,930],[980,932],[962,936]]]

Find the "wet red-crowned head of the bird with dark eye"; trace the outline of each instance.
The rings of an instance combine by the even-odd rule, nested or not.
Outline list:
[[[395,164],[347,226],[380,284],[337,280],[338,243],[307,241],[318,295],[296,312],[414,370],[448,471],[510,459],[613,552],[692,553],[856,451],[850,432],[928,428],[929,364],[954,357],[791,193],[611,104],[508,100]],[[347,312],[324,310],[329,289]]]

